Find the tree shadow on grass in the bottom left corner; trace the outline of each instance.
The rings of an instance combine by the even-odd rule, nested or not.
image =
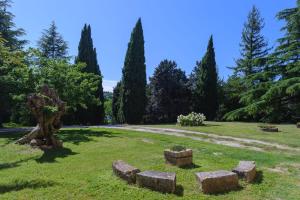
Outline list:
[[[20,191],[23,189],[37,189],[54,186],[55,182],[53,181],[44,181],[44,180],[21,180],[15,181],[10,184],[0,184],[0,194],[7,192]]]

